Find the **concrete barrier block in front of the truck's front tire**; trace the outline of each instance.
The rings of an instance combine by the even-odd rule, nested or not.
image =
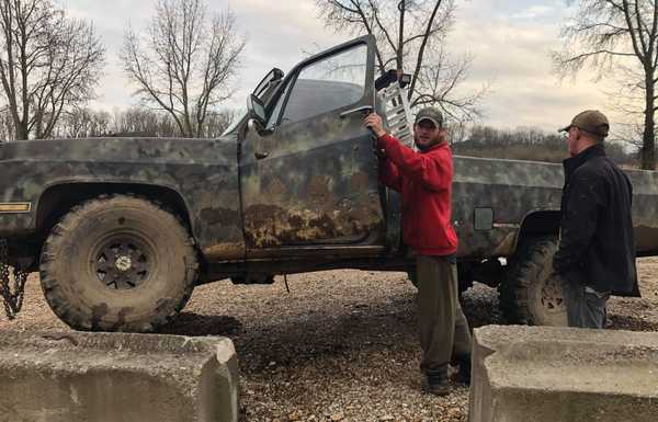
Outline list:
[[[235,422],[226,338],[0,331],[0,421]]]

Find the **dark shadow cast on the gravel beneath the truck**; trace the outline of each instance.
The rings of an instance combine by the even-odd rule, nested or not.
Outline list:
[[[241,357],[241,369],[252,374],[271,370],[273,363],[279,367],[333,366],[334,361],[368,361],[373,355],[419,355],[415,294],[392,296],[376,304],[349,301],[328,306],[331,309],[302,308],[271,321],[263,315],[256,324],[228,316],[188,311],[160,332],[228,337]],[[469,290],[462,306],[472,327],[500,321],[495,289],[480,286]]]

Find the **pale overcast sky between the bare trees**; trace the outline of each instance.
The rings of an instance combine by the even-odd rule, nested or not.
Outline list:
[[[393,0],[390,0],[393,1]],[[128,22],[137,30],[150,20],[156,0],[64,0],[71,14],[93,21],[107,48],[105,76],[93,107],[112,111],[136,103],[124,78],[117,54]],[[247,47],[239,81],[230,101],[242,107],[247,94],[272,67],[287,71],[305,52],[318,52],[347,41],[318,19],[314,0],[214,0],[209,8],[227,5],[235,12]],[[551,73],[549,52],[559,47],[559,25],[574,12],[567,0],[457,0],[456,23],[450,37],[454,55],[474,55],[465,89],[490,82],[483,102],[481,123],[499,128],[535,126],[555,130],[585,109],[615,116],[587,73],[575,83]]]

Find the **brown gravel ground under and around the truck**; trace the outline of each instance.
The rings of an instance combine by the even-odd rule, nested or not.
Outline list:
[[[610,300],[610,328],[658,331],[658,258],[638,261],[643,298]],[[468,389],[421,395],[415,288],[402,273],[328,271],[269,286],[223,281],[194,290],[167,333],[226,335],[240,361],[243,421],[465,421]],[[495,289],[464,295],[473,327],[504,322]],[[0,330],[68,330],[27,284]]]

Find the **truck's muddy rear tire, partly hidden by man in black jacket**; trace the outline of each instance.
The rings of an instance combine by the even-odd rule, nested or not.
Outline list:
[[[554,236],[527,239],[511,259],[507,280],[498,286],[500,310],[511,323],[567,326],[559,280],[553,271]]]

